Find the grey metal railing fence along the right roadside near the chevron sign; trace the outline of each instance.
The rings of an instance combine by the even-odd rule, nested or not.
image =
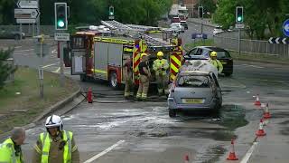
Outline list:
[[[238,52],[238,37],[231,38],[217,35],[214,36],[213,39],[217,46]],[[280,58],[289,58],[288,49],[288,44],[272,44],[267,41],[247,39],[241,39],[240,41],[240,50],[242,53],[266,54],[275,55]]]

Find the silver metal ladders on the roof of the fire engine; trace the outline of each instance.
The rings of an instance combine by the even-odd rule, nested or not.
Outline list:
[[[117,21],[101,21],[101,24],[106,25],[108,28],[110,28],[113,31],[118,31],[118,32],[126,32],[126,33],[134,33],[134,34],[139,34],[139,33],[144,33],[144,30],[148,29],[159,29],[158,27],[153,27],[153,26],[144,26],[144,25],[135,25],[135,24],[121,24]],[[148,43],[149,46],[169,46],[168,44],[151,37],[147,34],[143,34],[142,37],[144,38],[145,42]]]

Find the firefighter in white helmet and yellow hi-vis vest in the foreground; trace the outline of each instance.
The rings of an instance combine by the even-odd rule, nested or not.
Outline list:
[[[33,163],[79,163],[73,134],[63,129],[61,117],[49,116],[45,128],[34,146]]]

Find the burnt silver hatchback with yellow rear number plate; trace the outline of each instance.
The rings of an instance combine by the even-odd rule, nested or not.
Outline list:
[[[181,110],[210,110],[218,112],[222,106],[219,82],[213,72],[179,72],[167,99],[169,116]]]

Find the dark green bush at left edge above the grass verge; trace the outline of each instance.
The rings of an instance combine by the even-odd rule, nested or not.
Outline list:
[[[13,65],[7,63],[7,59],[13,51],[13,49],[0,50],[0,90],[4,87],[8,76],[16,71]]]

